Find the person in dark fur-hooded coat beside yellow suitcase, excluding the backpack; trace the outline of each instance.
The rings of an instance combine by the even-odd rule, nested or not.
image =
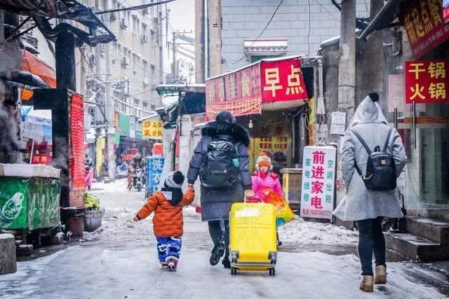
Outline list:
[[[222,264],[230,268],[229,262],[229,212],[234,202],[243,202],[244,197],[254,197],[252,180],[249,171],[248,145],[250,138],[243,127],[236,124],[236,118],[229,111],[218,113],[215,121],[207,123],[201,130],[201,140],[194,149],[190,160],[187,179],[188,188],[193,188],[199,176],[201,165],[208,151],[208,145],[216,139],[227,139],[234,144],[239,156],[239,179],[232,188],[207,188],[201,184],[201,218],[208,221],[213,249],[210,254],[210,265],[217,265],[225,254]],[[225,234],[222,232],[222,223],[225,224]],[[225,244],[223,244],[223,240]]]

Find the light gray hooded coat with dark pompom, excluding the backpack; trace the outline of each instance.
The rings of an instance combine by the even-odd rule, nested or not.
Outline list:
[[[348,128],[358,132],[370,148],[374,149],[375,146],[383,148],[390,127],[379,104],[376,103],[378,96],[370,95],[370,97],[363,99],[358,106]],[[388,144],[387,152],[393,155],[398,177],[406,165],[407,157],[401,137],[396,130],[391,133]],[[358,221],[379,216],[401,218],[402,204],[397,188],[389,191],[366,189],[354,167],[354,160],[364,173],[367,159],[366,149],[354,133],[347,130],[342,140],[341,153],[342,176],[347,196],[338,204],[333,214],[344,221]]]

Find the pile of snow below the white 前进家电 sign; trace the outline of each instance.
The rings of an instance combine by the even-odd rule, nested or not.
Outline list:
[[[330,223],[316,223],[296,218],[279,227],[282,241],[298,242],[302,245],[324,244],[354,246],[358,233]]]

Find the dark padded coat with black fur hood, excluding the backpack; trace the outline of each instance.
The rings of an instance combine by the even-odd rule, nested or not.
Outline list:
[[[212,189],[201,185],[201,218],[203,221],[227,220],[234,202],[243,202],[243,190],[251,190],[253,183],[249,172],[249,155],[247,147],[250,139],[248,133],[240,125],[213,121],[206,124],[201,130],[201,140],[194,150],[190,160],[187,180],[194,183],[199,176],[204,156],[208,151],[210,141],[217,138],[226,138],[232,141],[239,155],[240,175],[239,182],[231,189]]]

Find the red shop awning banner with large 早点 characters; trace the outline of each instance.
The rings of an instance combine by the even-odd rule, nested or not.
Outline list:
[[[302,56],[264,59],[236,71],[206,79],[206,116],[222,110],[234,116],[302,106],[308,99]]]

